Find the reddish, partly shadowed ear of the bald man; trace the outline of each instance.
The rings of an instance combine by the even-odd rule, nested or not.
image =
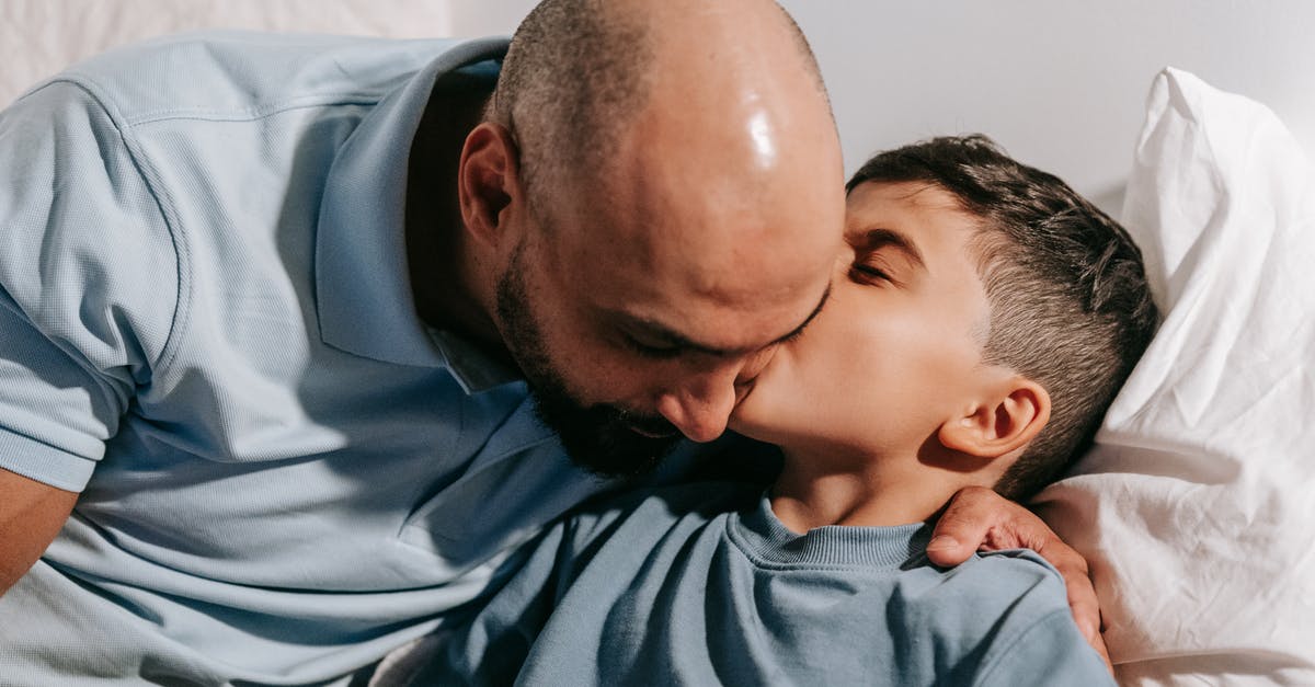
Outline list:
[[[462,220],[476,241],[496,247],[504,211],[521,200],[519,149],[505,126],[480,122],[466,137],[458,167]]]

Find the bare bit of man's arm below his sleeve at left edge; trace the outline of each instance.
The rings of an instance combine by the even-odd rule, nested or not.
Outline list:
[[[41,558],[78,495],[0,469],[0,595]]]

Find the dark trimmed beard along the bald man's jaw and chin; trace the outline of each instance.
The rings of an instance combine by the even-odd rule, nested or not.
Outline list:
[[[606,404],[585,405],[571,394],[565,379],[548,359],[542,328],[530,312],[523,247],[523,243],[517,246],[510,266],[498,279],[497,313],[506,347],[529,382],[539,421],[558,433],[562,446],[576,465],[592,472],[604,476],[652,472],[680,441],[680,434],[661,417],[639,416]],[[633,426],[673,434],[646,437]]]

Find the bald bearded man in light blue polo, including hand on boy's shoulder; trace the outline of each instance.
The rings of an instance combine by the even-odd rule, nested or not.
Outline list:
[[[26,93],[0,161],[5,684],[359,679],[707,455],[843,221],[765,0],[548,0],[510,51],[163,38]],[[939,532],[1084,574],[985,492]]]

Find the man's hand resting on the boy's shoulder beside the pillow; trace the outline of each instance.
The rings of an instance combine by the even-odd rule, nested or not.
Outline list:
[[[1101,638],[1101,605],[1086,559],[1027,508],[985,487],[959,490],[936,522],[927,558],[948,567],[963,563],[973,551],[999,549],[1031,549],[1064,575],[1073,620],[1110,666],[1110,653]]]

